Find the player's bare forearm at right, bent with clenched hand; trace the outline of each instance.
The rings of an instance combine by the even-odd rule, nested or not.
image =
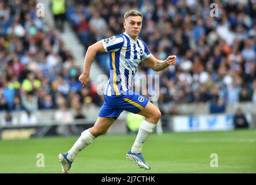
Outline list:
[[[176,64],[176,56],[169,56],[166,60],[157,60],[152,54],[150,57],[144,60],[152,69],[153,71],[162,71],[163,69],[167,68],[169,65]]]

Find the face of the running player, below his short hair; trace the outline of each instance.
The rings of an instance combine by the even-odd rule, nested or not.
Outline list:
[[[137,39],[142,27],[142,18],[140,16],[127,17],[123,23],[123,27],[125,27],[125,32],[131,38]]]

